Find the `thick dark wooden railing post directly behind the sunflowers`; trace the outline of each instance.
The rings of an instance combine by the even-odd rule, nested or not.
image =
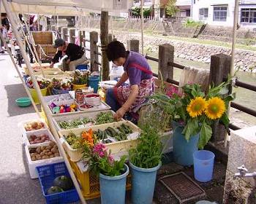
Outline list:
[[[230,73],[231,57],[225,54],[211,55],[211,68],[210,68],[210,85],[219,85],[224,82]],[[231,88],[230,88],[231,92]],[[213,125],[213,133],[211,141],[223,141],[225,139],[226,130],[224,125],[215,122]]]

